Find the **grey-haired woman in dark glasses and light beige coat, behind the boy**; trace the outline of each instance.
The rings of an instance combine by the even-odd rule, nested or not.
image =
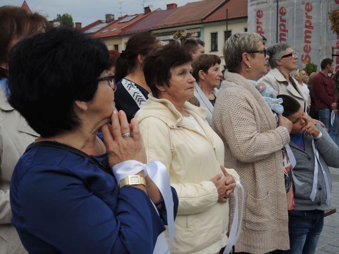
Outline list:
[[[297,85],[298,82],[290,75],[297,69],[298,56],[292,49],[292,46],[286,42],[273,44],[267,48],[269,54],[269,63],[271,71],[262,79],[262,83],[274,88],[279,94],[286,94],[296,99],[304,112],[307,112],[308,97]]]

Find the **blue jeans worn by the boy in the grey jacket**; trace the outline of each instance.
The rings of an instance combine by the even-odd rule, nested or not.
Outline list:
[[[298,211],[289,213],[290,250],[284,254],[314,254],[324,226],[324,211]]]

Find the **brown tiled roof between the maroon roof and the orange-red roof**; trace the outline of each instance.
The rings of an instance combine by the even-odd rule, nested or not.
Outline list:
[[[154,28],[196,24],[207,18],[215,9],[225,4],[227,0],[203,0],[189,2],[176,11]],[[246,4],[247,8],[247,4]]]

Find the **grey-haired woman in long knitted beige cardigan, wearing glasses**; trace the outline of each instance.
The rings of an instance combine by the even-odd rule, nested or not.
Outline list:
[[[249,80],[267,73],[269,56],[255,33],[236,33],[225,43],[225,81],[213,111],[212,128],[225,146],[225,166],[234,168],[245,189],[245,211],[236,253],[264,254],[289,249],[288,214],[281,148],[292,123],[279,126],[264,98]],[[230,220],[235,203],[229,202]]]

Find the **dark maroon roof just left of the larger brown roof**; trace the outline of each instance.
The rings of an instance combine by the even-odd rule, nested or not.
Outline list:
[[[141,21],[136,22],[135,24],[129,27],[123,28],[121,35],[150,31],[151,28],[156,26],[158,23],[166,19],[168,16],[170,16],[174,12],[178,11],[180,8],[181,7],[168,9],[168,10],[153,11],[152,13],[150,13],[150,15],[148,15]]]

